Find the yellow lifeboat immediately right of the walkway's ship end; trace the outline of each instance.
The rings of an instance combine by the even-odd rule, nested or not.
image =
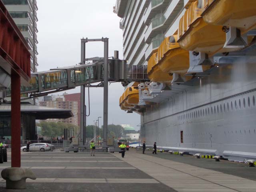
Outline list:
[[[148,78],[150,81],[154,82],[170,82],[172,80],[172,75],[168,74],[167,72],[162,72],[159,66],[157,65],[158,58],[157,52],[152,54],[150,59],[148,60]]]

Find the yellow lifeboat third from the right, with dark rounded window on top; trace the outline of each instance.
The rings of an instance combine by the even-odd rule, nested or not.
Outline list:
[[[189,68],[189,52],[180,48],[177,36],[165,38],[158,48],[158,65],[163,72],[184,75]]]

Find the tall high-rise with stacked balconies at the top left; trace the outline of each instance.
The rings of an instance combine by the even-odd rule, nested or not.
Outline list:
[[[38,10],[36,0],[2,0],[8,12],[12,16],[14,22],[20,29],[22,35],[28,42],[30,47],[31,71],[36,72],[37,63],[37,24],[38,18],[36,11]]]

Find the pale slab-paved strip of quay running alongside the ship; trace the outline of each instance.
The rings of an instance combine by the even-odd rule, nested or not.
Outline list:
[[[149,153],[148,153],[149,154]],[[166,153],[165,155],[171,155]],[[118,154],[114,154],[117,158],[120,158]],[[171,155],[175,156],[175,155]],[[186,158],[185,156],[179,156],[179,159]],[[174,157],[176,161],[169,158],[161,158],[161,155],[141,154],[134,150],[126,153],[124,160],[132,166],[142,170],[146,174],[149,174],[157,181],[175,189],[178,192],[182,191],[228,191],[228,192],[241,192],[250,191],[253,188],[256,190],[256,181],[248,178],[241,177],[241,164],[235,165],[235,168],[240,169],[239,174],[236,175],[236,170],[233,170],[233,174],[226,174],[219,172],[216,166],[216,162],[206,162],[207,167],[212,169],[206,169],[204,166],[194,166],[188,159],[178,162],[178,158]],[[195,158],[189,157],[189,160],[196,161]],[[121,158],[120,158],[121,159]],[[225,162],[228,164],[229,162]],[[232,163],[231,163],[232,164]],[[242,164],[246,167],[245,164]],[[230,165],[228,165],[230,166]],[[232,166],[230,166],[232,167]],[[246,168],[245,168],[246,169]],[[244,170],[245,170],[244,169]],[[254,173],[255,169],[251,169],[250,172]],[[243,174],[246,174],[243,173]],[[228,180],[228,182],[225,182]],[[233,183],[230,183],[233,181]],[[234,183],[236,182],[236,183]]]

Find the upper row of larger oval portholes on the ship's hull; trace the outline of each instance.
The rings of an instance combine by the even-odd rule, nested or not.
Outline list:
[[[253,106],[255,106],[255,97],[252,96],[252,104]],[[247,98],[247,106],[250,107],[251,104],[250,104],[250,97]],[[246,99],[244,98],[243,99],[243,107],[246,108]],[[219,113],[219,112],[229,112],[229,111],[233,111],[233,110],[238,110],[242,108],[241,106],[241,100],[239,99],[238,102],[237,100],[234,101],[234,105],[233,105],[233,101],[230,102],[227,102],[227,104],[223,104],[223,108],[222,108],[222,104],[219,104],[214,107],[208,107],[208,108],[205,108],[205,109],[201,109],[201,110],[196,110],[194,112],[188,112],[186,114],[183,114],[183,115],[179,115],[178,116],[178,120],[185,120],[185,119],[191,119],[191,118],[197,118],[197,117],[200,117],[200,116],[206,116],[208,114],[216,114]]]

